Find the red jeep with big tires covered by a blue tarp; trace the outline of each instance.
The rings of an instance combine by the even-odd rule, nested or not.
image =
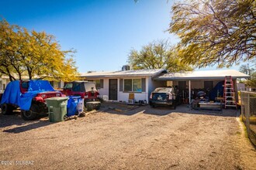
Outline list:
[[[2,114],[12,114],[18,107],[26,121],[36,119],[40,114],[47,114],[45,99],[61,97],[47,80],[15,80],[10,82],[2,94]]]

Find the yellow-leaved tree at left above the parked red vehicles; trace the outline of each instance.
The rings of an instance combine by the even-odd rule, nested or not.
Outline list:
[[[0,22],[0,73],[9,80],[47,79],[70,81],[78,75],[72,54],[62,51],[54,36],[29,32],[19,26]]]

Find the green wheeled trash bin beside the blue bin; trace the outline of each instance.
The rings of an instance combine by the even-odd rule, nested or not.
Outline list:
[[[49,121],[64,121],[64,116],[67,114],[68,97],[51,97],[45,100],[49,112]]]

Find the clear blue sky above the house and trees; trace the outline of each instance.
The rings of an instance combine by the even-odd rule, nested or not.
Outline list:
[[[166,32],[172,2],[0,0],[0,17],[10,24],[54,35],[63,50],[75,49],[80,73],[121,70],[131,49],[140,50],[157,39],[178,42],[177,37]]]

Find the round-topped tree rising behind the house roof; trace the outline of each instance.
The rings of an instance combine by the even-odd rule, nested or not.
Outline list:
[[[140,69],[166,69],[169,72],[190,71],[192,67],[182,63],[176,56],[176,49],[168,41],[150,42],[140,51],[132,49],[128,63],[133,70]]]

